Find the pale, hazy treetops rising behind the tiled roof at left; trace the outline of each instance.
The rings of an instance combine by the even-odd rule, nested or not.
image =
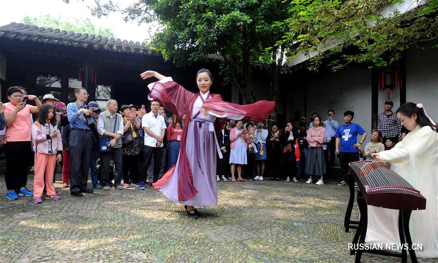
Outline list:
[[[62,20],[61,16],[54,18],[51,15],[39,15],[38,17],[25,16],[21,19],[22,23],[42,26],[46,28],[57,28],[65,31],[73,31],[75,33],[86,33],[89,35],[98,35],[107,38],[114,38],[114,33],[111,28],[96,27],[91,19],[74,19],[73,21]]]

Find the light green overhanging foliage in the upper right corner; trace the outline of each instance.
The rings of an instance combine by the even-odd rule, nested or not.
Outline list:
[[[386,66],[398,61],[406,49],[438,37],[437,0],[424,0],[405,13],[382,15],[384,8],[402,2],[291,0],[289,18],[276,24],[288,32],[276,44],[285,45],[291,55],[316,52],[313,70],[327,58],[333,70],[358,62]]]

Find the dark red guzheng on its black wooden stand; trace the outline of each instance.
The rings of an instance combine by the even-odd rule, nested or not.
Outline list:
[[[350,174],[359,186],[357,191],[357,202],[361,213],[359,224],[357,226],[357,232],[352,243],[356,244],[358,241],[359,244],[365,243],[366,228],[368,223],[367,205],[388,209],[397,209],[399,210],[400,243],[408,244],[411,262],[417,262],[417,256],[415,255],[415,251],[412,249],[411,234],[409,233],[409,219],[411,217],[412,210],[426,209],[426,199],[399,174],[391,170],[388,162],[350,162]],[[351,182],[351,184],[353,184],[353,182]],[[353,198],[350,196],[350,202],[354,202],[354,190],[352,194]],[[350,223],[351,210],[353,208],[353,203],[350,204],[350,202],[348,203],[347,211],[345,213],[345,223]],[[348,209],[350,210],[348,211]],[[346,232],[348,232],[347,226],[345,227]],[[350,254],[354,255],[356,253],[355,262],[361,262],[362,252],[398,257],[401,258],[401,262],[407,261],[406,249],[402,249],[401,253],[377,249],[352,249]]]

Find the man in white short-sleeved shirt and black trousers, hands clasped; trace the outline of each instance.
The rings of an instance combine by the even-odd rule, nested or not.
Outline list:
[[[143,146],[143,167],[140,174],[140,190],[145,189],[146,173],[153,156],[153,182],[158,181],[160,174],[161,158],[163,157],[163,141],[166,134],[166,122],[163,116],[158,114],[160,102],[151,101],[151,112],[144,115],[141,126],[145,132]]]

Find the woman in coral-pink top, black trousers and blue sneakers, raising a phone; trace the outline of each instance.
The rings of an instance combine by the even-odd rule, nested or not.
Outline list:
[[[6,119],[6,171],[4,179],[8,189],[7,198],[17,200],[19,196],[32,196],[26,188],[27,169],[31,161],[31,113],[38,113],[41,101],[37,96],[23,96],[21,87],[10,87],[6,94],[10,102],[5,103]],[[35,101],[37,106],[27,105],[23,100]],[[18,195],[17,195],[18,193]]]

